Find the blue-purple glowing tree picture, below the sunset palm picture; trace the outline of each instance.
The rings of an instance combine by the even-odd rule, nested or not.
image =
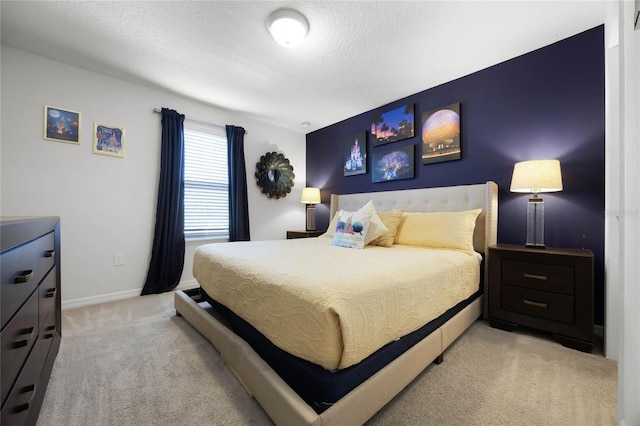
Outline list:
[[[414,177],[415,145],[400,148],[381,149],[373,152],[371,161],[371,181],[411,179]]]

